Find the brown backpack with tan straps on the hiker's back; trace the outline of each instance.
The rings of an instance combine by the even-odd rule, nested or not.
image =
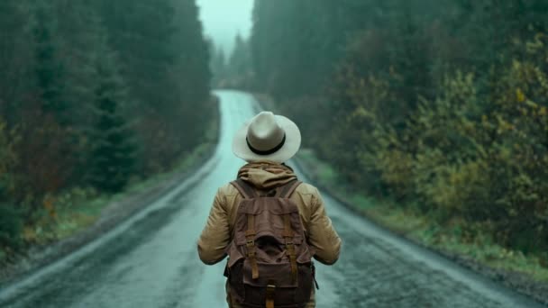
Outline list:
[[[242,307],[305,307],[314,284],[312,255],[297,205],[289,200],[301,182],[266,195],[238,179],[242,194],[227,248],[225,275],[233,301]]]

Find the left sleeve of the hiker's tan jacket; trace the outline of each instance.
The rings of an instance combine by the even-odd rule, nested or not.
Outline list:
[[[217,191],[205,228],[198,240],[198,255],[202,262],[214,265],[226,257],[224,249],[230,241],[226,203],[221,191]]]

